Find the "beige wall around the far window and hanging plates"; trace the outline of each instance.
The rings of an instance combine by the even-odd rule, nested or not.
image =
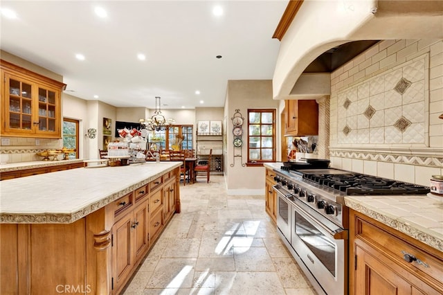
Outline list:
[[[263,195],[264,194],[264,167],[242,166],[247,161],[246,127],[248,109],[275,108],[277,126],[280,126],[280,101],[272,99],[271,80],[229,80],[226,95],[225,116],[226,127],[226,185],[230,195]],[[244,117],[244,144],[241,148],[233,147],[233,117],[235,109],[239,109]],[[280,130],[277,131],[280,134]],[[278,142],[278,140],[277,140]],[[280,147],[277,147],[277,151]],[[233,157],[242,154],[242,157]],[[233,167],[231,167],[233,165]]]

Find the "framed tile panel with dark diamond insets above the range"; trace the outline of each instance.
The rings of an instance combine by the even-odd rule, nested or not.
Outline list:
[[[338,144],[422,144],[428,54],[338,93]]]

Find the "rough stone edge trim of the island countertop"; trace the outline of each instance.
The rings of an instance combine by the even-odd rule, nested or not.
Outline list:
[[[137,164],[136,164],[137,165]],[[86,206],[80,208],[80,210],[75,210],[70,213],[10,213],[10,212],[0,212],[0,224],[69,224],[73,223],[77,220],[80,220],[82,217],[85,217],[94,211],[114,202],[116,199],[123,197],[127,193],[144,186],[145,184],[149,184],[150,181],[164,175],[171,170],[181,166],[181,163],[173,163],[171,162],[171,166],[157,172],[154,175],[150,175],[146,179],[142,181],[138,181],[136,184],[131,184],[129,186],[122,186],[122,189],[115,193],[110,193],[106,197],[102,197],[97,201],[93,201]],[[84,168],[81,168],[84,169]],[[97,170],[98,171],[98,170]],[[53,172],[57,173],[57,172]],[[2,181],[3,182],[3,181]]]

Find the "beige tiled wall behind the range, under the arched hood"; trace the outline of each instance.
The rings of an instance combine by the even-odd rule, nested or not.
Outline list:
[[[393,90],[400,78],[412,82],[403,95]],[[442,39],[379,42],[336,69],[331,85],[332,166],[425,186],[443,175]],[[411,123],[404,132],[395,127],[400,116]]]

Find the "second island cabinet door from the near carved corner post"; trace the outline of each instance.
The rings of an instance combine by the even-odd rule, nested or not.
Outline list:
[[[141,260],[148,247],[147,241],[147,202],[143,202],[134,210],[134,245],[135,260]]]

